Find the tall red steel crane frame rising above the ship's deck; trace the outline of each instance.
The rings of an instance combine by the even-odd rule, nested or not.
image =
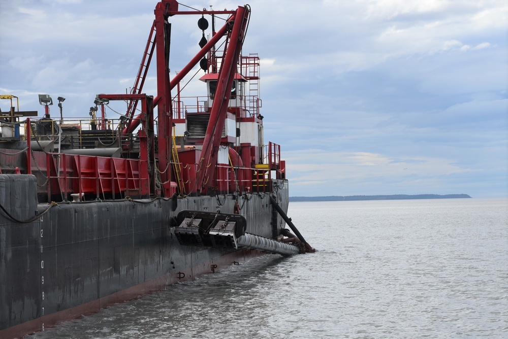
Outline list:
[[[142,92],[144,79],[155,51],[157,96],[153,99],[153,105],[157,112],[157,146],[158,146],[158,168],[168,168],[171,162],[171,141],[172,141],[172,97],[171,90],[192,70],[207,53],[214,49],[215,44],[226,37],[224,55],[220,65],[217,79],[216,98],[210,111],[210,119],[206,130],[206,137],[199,157],[197,169],[197,191],[206,190],[207,183],[215,174],[217,152],[220,145],[220,135],[226,120],[229,93],[233,85],[233,79],[237,73],[237,65],[240,58],[240,51],[250,14],[248,6],[238,7],[235,11],[180,11],[178,2],[175,0],[163,0],[155,7],[155,19],[150,30],[148,42],[143,54],[142,62],[133,87],[133,94]],[[213,32],[212,38],[192,58],[178,74],[170,79],[169,77],[169,54],[171,45],[171,23],[168,19],[174,15],[216,15],[229,14],[223,27]],[[210,53],[213,54],[213,53]],[[215,59],[215,58],[214,58]],[[213,61],[212,61],[213,62]],[[210,60],[207,60],[210,65]],[[216,66],[216,65],[214,65]],[[126,114],[128,120],[122,130],[123,134],[132,132],[141,122],[142,113],[134,116],[137,106],[137,98],[129,101],[129,108]],[[160,171],[162,183],[169,182],[169,171]],[[162,187],[165,195],[169,194],[168,187]]]

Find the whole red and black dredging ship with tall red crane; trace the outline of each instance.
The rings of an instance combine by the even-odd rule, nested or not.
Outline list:
[[[185,11],[163,0],[154,13],[132,90],[98,94],[90,118],[64,119],[62,97],[54,119],[49,95],[39,95],[42,118],[1,96],[11,100],[0,117],[2,338],[266,252],[313,251],[286,215],[280,146],[263,141],[260,59],[241,54],[250,8]],[[169,21],[190,14],[201,49],[170,79]],[[216,30],[218,15],[227,19]],[[152,59],[155,96],[143,92]],[[207,95],[183,97],[180,81],[197,65]],[[126,110],[107,119],[117,100]]]

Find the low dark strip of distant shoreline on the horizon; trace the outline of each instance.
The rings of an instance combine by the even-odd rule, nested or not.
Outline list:
[[[357,200],[408,200],[408,199],[457,199],[470,198],[468,194],[393,194],[393,195],[329,195],[290,196],[289,201],[357,201]]]

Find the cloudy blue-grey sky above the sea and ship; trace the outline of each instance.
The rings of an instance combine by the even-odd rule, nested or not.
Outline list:
[[[96,94],[134,84],[156,3],[0,0],[0,94],[40,112],[38,94],[63,96],[66,116],[87,116]],[[508,197],[505,0],[248,4],[243,53],[261,57],[265,142],[281,145],[291,196]],[[196,20],[170,19],[172,74],[199,49]]]

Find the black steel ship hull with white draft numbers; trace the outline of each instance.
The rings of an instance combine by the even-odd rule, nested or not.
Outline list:
[[[38,204],[28,175],[0,175],[0,337],[43,330],[178,281],[261,254],[181,246],[174,218],[182,210],[234,213],[236,199],[201,196],[137,201]],[[279,180],[284,210],[288,189]],[[284,221],[269,194],[238,199],[247,232],[274,238]],[[37,212],[36,212],[37,211]],[[29,223],[20,221],[37,218]]]

